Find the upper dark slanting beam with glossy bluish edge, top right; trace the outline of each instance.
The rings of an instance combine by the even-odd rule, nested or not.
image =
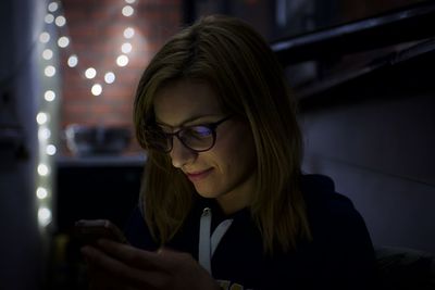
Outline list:
[[[331,59],[434,36],[435,2],[400,8],[377,16],[283,38],[271,43],[283,66]]]

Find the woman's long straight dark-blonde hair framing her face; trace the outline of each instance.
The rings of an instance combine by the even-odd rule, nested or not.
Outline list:
[[[197,193],[167,154],[149,150],[146,127],[154,121],[159,88],[178,79],[204,80],[222,106],[244,117],[257,150],[257,191],[250,212],[265,252],[290,251],[310,240],[300,191],[301,134],[296,104],[284,72],[264,39],[240,20],[211,15],[172,37],[154,55],[139,81],[134,121],[148,150],[141,197],[153,238],[164,244],[188,215]]]

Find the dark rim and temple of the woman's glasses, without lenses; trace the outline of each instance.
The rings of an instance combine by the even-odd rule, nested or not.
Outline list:
[[[170,146],[169,146],[169,149],[167,150],[161,150],[161,149],[157,149],[156,147],[152,147],[151,146],[151,148],[153,149],[153,150],[156,150],[156,151],[160,151],[160,152],[163,152],[163,153],[170,153],[173,149],[174,149],[174,136],[179,140],[179,142],[185,147],[185,148],[187,148],[187,149],[189,149],[189,150],[191,150],[191,151],[194,151],[194,152],[197,152],[197,153],[200,153],[200,152],[206,152],[206,151],[209,151],[209,150],[211,150],[213,147],[214,147],[214,144],[216,143],[216,128],[219,127],[219,125],[221,125],[222,123],[224,123],[225,121],[228,121],[229,118],[232,118],[233,116],[232,115],[229,115],[229,116],[226,116],[226,117],[224,117],[224,118],[221,118],[221,119],[219,119],[219,121],[216,121],[216,122],[213,122],[213,123],[207,123],[207,124],[199,124],[199,125],[191,125],[191,126],[185,126],[185,127],[182,127],[182,128],[179,128],[178,130],[176,130],[176,131],[174,131],[174,133],[165,133],[165,131],[162,131],[162,134],[165,136],[165,138],[166,138],[166,141],[169,141],[169,140],[171,140],[170,141]],[[154,126],[156,126],[157,124],[154,124]],[[158,126],[158,125],[157,125]],[[211,146],[209,147],[209,148],[207,148],[207,149],[201,149],[201,150],[197,150],[197,149],[194,149],[194,148],[190,148],[188,144],[186,144],[185,143],[185,141],[183,140],[183,138],[179,136],[179,134],[181,133],[183,133],[186,128],[190,128],[190,127],[199,127],[199,126],[201,126],[201,127],[207,127],[208,129],[210,129],[211,130],[211,134],[212,134],[212,143],[211,143]],[[151,126],[149,126],[149,127],[151,127]]]

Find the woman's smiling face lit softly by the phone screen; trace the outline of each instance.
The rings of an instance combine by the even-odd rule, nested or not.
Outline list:
[[[217,122],[225,115],[216,92],[200,81],[178,80],[159,89],[156,121],[164,131]],[[173,137],[172,164],[204,198],[215,198],[226,213],[247,206],[254,189],[257,157],[249,125],[236,117],[216,128],[214,147],[195,152]]]

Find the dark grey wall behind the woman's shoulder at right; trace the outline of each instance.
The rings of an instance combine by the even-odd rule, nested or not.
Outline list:
[[[428,52],[343,84],[301,117],[304,169],[335,179],[376,245],[435,253],[434,63]]]

